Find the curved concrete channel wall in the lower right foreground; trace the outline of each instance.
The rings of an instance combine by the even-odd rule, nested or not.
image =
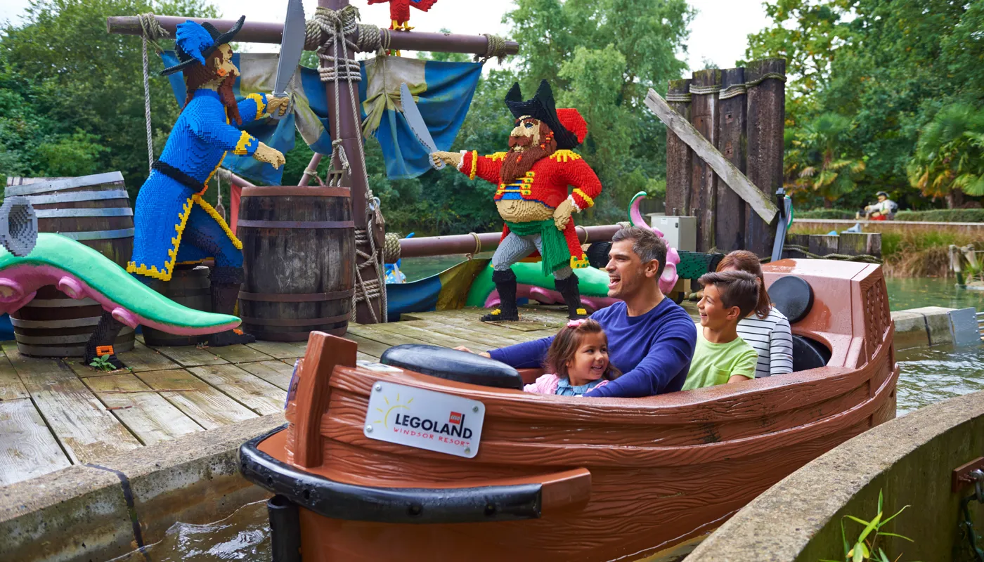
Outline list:
[[[867,431],[793,472],[714,531],[687,562],[816,562],[842,560],[840,522],[875,517],[879,491],[885,516],[911,506],[885,531],[895,560],[971,560],[957,528],[962,493],[951,473],[984,457],[984,393],[927,406]],[[754,475],[750,475],[754,477]],[[978,533],[984,505],[971,504]],[[861,527],[845,523],[848,540]]]

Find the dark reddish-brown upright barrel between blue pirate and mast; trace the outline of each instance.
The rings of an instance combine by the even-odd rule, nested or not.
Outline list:
[[[355,280],[349,198],[346,187],[243,188],[237,230],[245,332],[275,342],[346,332]]]

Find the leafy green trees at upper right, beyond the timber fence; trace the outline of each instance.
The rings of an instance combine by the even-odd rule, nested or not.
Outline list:
[[[787,58],[787,133],[807,135],[830,114],[851,123],[838,157],[866,166],[841,206],[878,190],[913,207],[958,203],[953,191],[926,191],[927,202],[910,187],[909,164],[943,107],[982,106],[984,0],[778,0],[766,9],[772,23],[750,35],[746,56]]]

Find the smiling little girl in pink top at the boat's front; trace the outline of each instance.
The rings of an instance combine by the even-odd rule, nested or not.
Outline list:
[[[608,362],[608,339],[601,325],[589,318],[572,320],[547,350],[542,375],[523,390],[528,393],[582,396],[608,384],[619,374]]]

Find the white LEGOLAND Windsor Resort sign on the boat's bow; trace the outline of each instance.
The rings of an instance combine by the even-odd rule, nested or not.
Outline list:
[[[484,418],[478,401],[377,382],[362,431],[370,439],[471,459]]]

